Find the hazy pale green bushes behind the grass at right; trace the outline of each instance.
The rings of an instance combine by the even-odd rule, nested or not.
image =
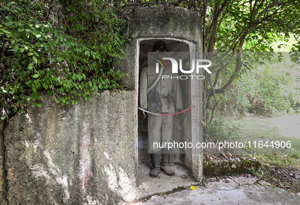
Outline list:
[[[219,96],[220,108],[239,112],[264,110],[273,115],[299,112],[300,73],[297,64],[290,62],[290,55],[277,53],[268,65],[254,64],[251,73]]]

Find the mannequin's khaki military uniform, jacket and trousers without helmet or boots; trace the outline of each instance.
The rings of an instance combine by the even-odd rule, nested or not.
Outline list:
[[[162,68],[160,68],[162,69]],[[156,111],[157,113],[175,113],[176,110],[183,108],[180,83],[177,79],[177,74],[172,74],[171,67],[170,70],[166,69],[163,75],[168,75],[170,77],[160,79],[156,86],[156,91],[160,96],[162,106]],[[171,79],[172,76],[172,79]],[[140,106],[145,109],[148,108],[147,90],[154,81],[157,79],[158,73],[155,72],[153,66],[144,67],[141,70],[140,75]],[[174,78],[175,77],[175,78]],[[175,95],[175,102],[169,102],[168,94]],[[164,97],[165,96],[165,97]],[[176,108],[175,109],[175,105]],[[171,142],[172,140],[172,130],[173,130],[173,115],[170,116],[158,116],[153,114],[148,114],[148,146],[150,153],[159,152],[159,147],[154,148],[153,142]],[[168,149],[162,150],[162,153],[168,152]]]

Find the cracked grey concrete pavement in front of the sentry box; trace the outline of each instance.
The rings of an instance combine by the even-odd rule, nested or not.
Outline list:
[[[240,184],[242,181],[244,184]],[[170,195],[154,195],[137,204],[299,204],[300,196],[251,178],[212,182],[197,190],[186,189]]]

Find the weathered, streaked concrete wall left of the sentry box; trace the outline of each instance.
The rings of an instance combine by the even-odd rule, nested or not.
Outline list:
[[[82,105],[45,96],[4,130],[10,204],[115,204],[135,198],[135,92],[105,91]]]

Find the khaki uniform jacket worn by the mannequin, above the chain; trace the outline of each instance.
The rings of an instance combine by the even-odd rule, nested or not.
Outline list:
[[[174,93],[175,94],[175,101],[176,101],[176,108],[183,108],[182,104],[182,96],[181,96],[181,88],[180,83],[177,78],[177,74],[173,74],[171,68],[170,70],[166,69],[163,75],[170,76],[169,78],[163,78],[158,81],[156,86],[156,91],[158,94],[163,96],[168,96],[168,94]],[[172,76],[172,79],[171,79]],[[141,69],[140,74],[140,107],[145,109],[148,108],[147,106],[147,90],[154,81],[157,79],[158,73],[155,72],[154,67],[144,67]],[[162,106],[159,108],[159,112],[168,112],[168,113],[175,113],[175,102],[169,102],[168,99],[161,98]]]

